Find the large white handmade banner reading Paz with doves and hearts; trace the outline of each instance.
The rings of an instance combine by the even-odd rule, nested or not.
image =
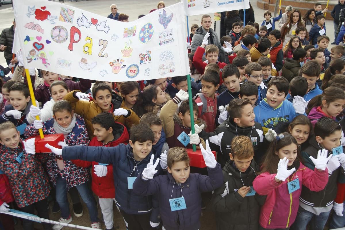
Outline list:
[[[119,22],[46,0],[15,0],[24,66],[99,81],[189,74],[183,3]]]

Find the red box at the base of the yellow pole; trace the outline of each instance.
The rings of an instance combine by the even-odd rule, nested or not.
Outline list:
[[[41,139],[40,136],[34,136],[29,137],[26,140],[29,140],[31,138],[35,139],[35,148],[37,153],[44,153],[44,152],[51,152],[50,149],[46,148],[46,144],[50,144],[51,146],[54,146],[55,148],[61,149],[61,146],[58,145],[59,141],[65,140],[65,137],[62,133],[60,134],[47,134],[44,136],[43,139]]]

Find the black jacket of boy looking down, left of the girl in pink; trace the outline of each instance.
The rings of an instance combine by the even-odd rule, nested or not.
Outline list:
[[[223,168],[223,185],[214,191],[211,200],[212,208],[216,211],[217,230],[259,228],[260,205],[264,204],[266,196],[256,193],[254,196],[243,198],[237,192],[237,189],[243,186],[253,186],[259,167],[254,160],[250,163],[250,167],[246,172],[240,173],[233,161],[226,162]]]

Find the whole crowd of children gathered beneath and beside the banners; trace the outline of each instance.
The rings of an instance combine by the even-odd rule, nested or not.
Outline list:
[[[220,46],[193,24],[190,37],[205,33],[198,46],[188,43],[191,82],[93,82],[49,70],[40,79],[30,69],[32,103],[18,53],[10,78],[1,67],[0,211],[49,219],[50,199],[57,221],[70,223],[82,210],[70,210],[69,192],[94,229],[115,229],[115,203],[129,230],[198,230],[201,193],[213,191],[214,229],[345,227],[345,48],[328,51],[319,11],[302,20],[293,10],[281,30],[280,8],[276,18],[266,11],[261,27],[236,20]],[[30,137],[39,130],[65,140],[36,153]],[[207,170],[191,165],[193,145]],[[14,230],[12,217],[0,222]]]

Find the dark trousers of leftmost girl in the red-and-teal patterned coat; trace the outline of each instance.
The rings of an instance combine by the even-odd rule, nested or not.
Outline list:
[[[47,198],[44,200],[37,201],[36,203],[30,204],[23,208],[20,208],[21,211],[35,214],[35,209],[37,210],[38,216],[44,219],[49,220],[48,212],[48,202]],[[10,218],[10,216],[8,216]],[[23,229],[24,230],[33,230],[33,223],[31,220],[23,219]],[[42,223],[44,230],[51,230],[51,224]]]

